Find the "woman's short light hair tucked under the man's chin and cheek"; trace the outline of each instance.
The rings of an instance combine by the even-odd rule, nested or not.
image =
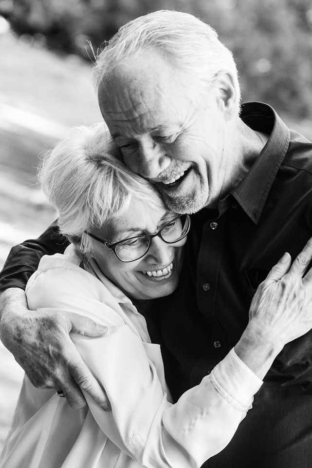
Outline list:
[[[106,226],[122,215],[132,198],[163,207],[156,189],[121,161],[104,123],[74,127],[42,160],[38,178],[58,211],[60,232],[82,254],[92,253],[85,231]],[[110,240],[110,239],[106,239]]]

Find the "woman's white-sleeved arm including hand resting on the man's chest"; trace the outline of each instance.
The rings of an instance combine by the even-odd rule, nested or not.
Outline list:
[[[99,281],[81,281],[86,272],[79,271],[78,278],[63,268],[52,276],[44,273],[50,273],[46,278],[37,275],[29,294],[43,311],[55,307],[71,313],[74,307],[108,327],[107,337],[73,335],[73,340],[108,392],[110,413],[86,398],[98,426],[115,445],[147,467],[199,467],[233,436],[260,386],[257,377],[265,375],[286,343],[312,328],[312,271],[303,277],[311,257],[309,241],[291,267],[285,254],[261,283],[235,347],[244,362],[231,351],[175,405],[165,395],[156,345],[142,343],[120,313],[100,300],[94,286]]]

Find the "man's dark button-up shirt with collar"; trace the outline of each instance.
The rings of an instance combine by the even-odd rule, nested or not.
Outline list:
[[[269,140],[217,210],[204,208],[192,216],[178,289],[145,313],[152,340],[161,344],[175,399],[235,346],[259,283],[284,252],[294,258],[312,235],[312,143],[290,131],[265,104],[243,105],[241,118]],[[1,289],[22,287],[36,268],[29,245],[33,248],[34,241],[26,251],[24,246],[12,250]],[[312,467],[311,345],[307,333],[285,346],[254,408],[229,446],[208,461],[209,468]]]

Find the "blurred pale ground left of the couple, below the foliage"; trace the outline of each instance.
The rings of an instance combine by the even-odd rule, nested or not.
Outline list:
[[[0,269],[10,248],[36,238],[55,219],[37,189],[38,155],[69,125],[102,119],[91,63],[58,56],[36,43],[0,34]],[[0,450],[23,372],[0,344]],[[27,467],[25,467],[27,468]]]

